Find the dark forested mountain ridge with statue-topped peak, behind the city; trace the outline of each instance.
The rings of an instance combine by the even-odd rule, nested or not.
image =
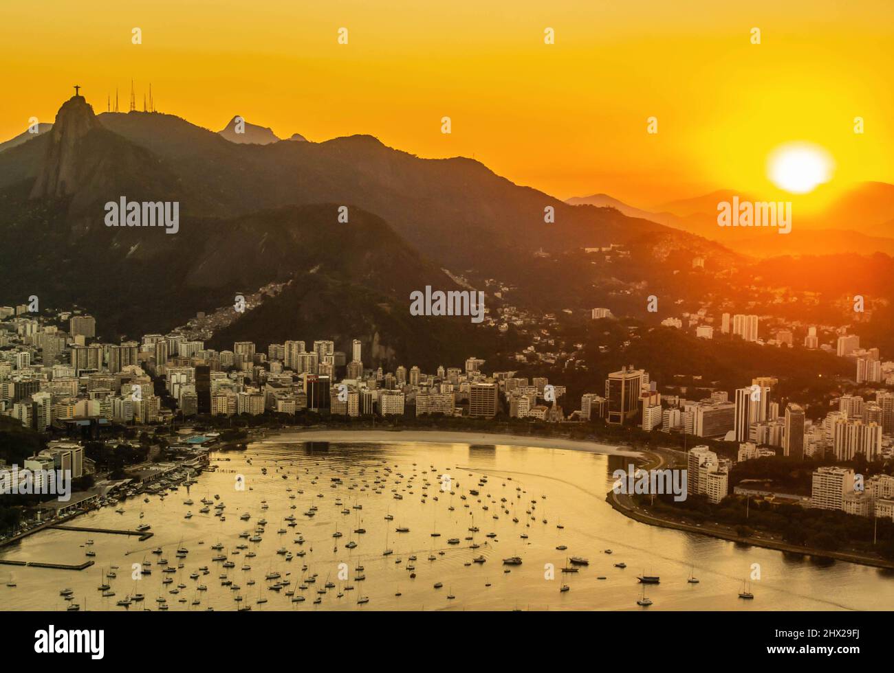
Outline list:
[[[654,215],[606,195],[564,203],[462,157],[422,159],[370,136],[280,141],[235,123],[215,133],[66,101],[49,132],[0,152],[5,294],[79,303],[110,334],[134,336],[290,283],[221,338],[360,336],[384,359],[413,353],[423,365],[426,349],[468,357],[488,338],[463,318],[409,320],[409,293],[426,285],[465,278],[481,289],[496,278],[513,287],[503,301],[584,311],[609,297],[639,306],[654,287],[694,292],[696,257],[706,269],[746,263],[730,240],[680,230],[697,209]],[[179,233],[106,227],[105,204],[122,196],[179,203]],[[628,256],[585,252],[611,245]]]

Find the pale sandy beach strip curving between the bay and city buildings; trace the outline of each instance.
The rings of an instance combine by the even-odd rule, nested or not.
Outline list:
[[[249,440],[252,441],[252,440]],[[424,444],[468,444],[530,446],[541,449],[565,451],[585,451],[642,458],[639,451],[621,446],[599,444],[597,442],[566,439],[564,437],[544,437],[529,435],[504,435],[498,432],[461,432],[439,430],[332,430],[332,429],[286,429],[274,435],[265,435],[262,442],[366,442],[368,444],[388,444],[392,442],[416,442]]]

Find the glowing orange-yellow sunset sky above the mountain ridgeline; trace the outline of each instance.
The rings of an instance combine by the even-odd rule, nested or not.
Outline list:
[[[731,4],[6,2],[0,139],[53,120],[73,84],[97,112],[117,86],[126,109],[133,78],[139,107],[151,81],[160,111],[210,129],[241,114],[280,137],[369,133],[420,156],[474,155],[561,198],[772,194],[767,155],[795,140],[834,157],[824,194],[894,182],[894,2]]]

